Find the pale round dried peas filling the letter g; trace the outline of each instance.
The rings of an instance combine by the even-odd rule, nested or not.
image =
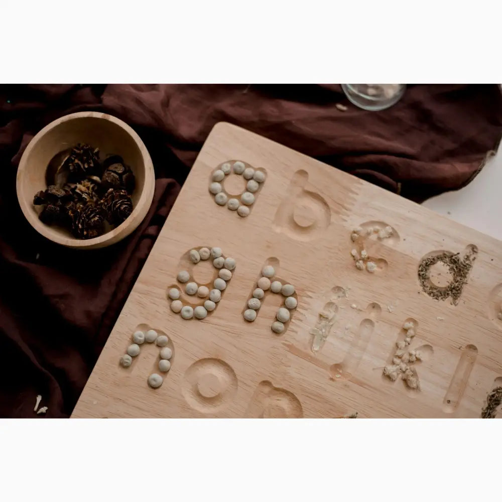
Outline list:
[[[213,267],[218,270],[218,277],[212,282],[212,288],[209,289],[206,285],[199,286],[195,281],[191,280],[188,271],[182,270],[177,276],[178,282],[185,285],[184,290],[188,296],[197,297],[202,303],[196,307],[183,305],[180,300],[181,291],[178,287],[170,288],[167,296],[171,300],[171,310],[175,314],[180,314],[182,319],[195,318],[201,320],[205,319],[208,312],[216,309],[216,304],[221,300],[221,292],[226,289],[228,282],[232,279],[236,262],[233,258],[224,257],[220,247],[191,249],[188,259],[194,265],[200,261],[211,261]]]

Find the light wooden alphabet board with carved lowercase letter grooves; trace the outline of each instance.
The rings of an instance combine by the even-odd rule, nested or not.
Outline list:
[[[208,192],[211,172],[235,160],[267,173],[247,218],[216,205]],[[234,181],[228,179],[225,188]],[[352,228],[367,222],[383,222],[396,231],[392,238],[366,241],[370,257],[380,264],[374,274],[357,270],[350,255]],[[470,244],[479,252],[458,305],[425,294],[417,276],[422,257],[442,249],[462,253]],[[200,246],[221,247],[237,267],[217,309],[203,321],[186,321],[170,310],[166,292],[179,270],[191,270],[186,254]],[[479,417],[487,393],[502,376],[501,257],[502,243],[491,237],[219,123],[73,417],[343,417],[354,412],[361,418]],[[278,295],[266,297],[255,322],[242,318],[262,267],[277,260],[277,276],[293,284],[298,297],[282,335],[270,329],[281,303]],[[207,263],[193,270],[201,282],[204,274],[206,280],[212,274]],[[342,288],[347,298],[340,297]],[[314,354],[310,330],[328,302],[338,308],[337,317]],[[382,374],[410,319],[417,324],[410,348],[422,347],[424,353],[424,360],[413,365],[418,391]],[[156,347],[142,346],[128,369],[118,364],[138,326],[162,330],[173,343],[172,368],[156,390],[147,385],[148,375],[158,372]]]

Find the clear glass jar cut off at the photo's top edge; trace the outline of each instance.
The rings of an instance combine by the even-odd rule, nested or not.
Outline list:
[[[342,84],[348,100],[364,110],[385,110],[396,104],[406,84]]]

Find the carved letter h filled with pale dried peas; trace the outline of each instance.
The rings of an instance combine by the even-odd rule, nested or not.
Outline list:
[[[254,284],[242,316],[248,322],[253,322],[260,312],[265,299],[271,295],[281,298],[280,306],[275,313],[271,329],[277,335],[284,333],[289,326],[291,318],[298,305],[298,296],[295,287],[277,276],[279,260],[269,258],[263,265],[259,278]]]

